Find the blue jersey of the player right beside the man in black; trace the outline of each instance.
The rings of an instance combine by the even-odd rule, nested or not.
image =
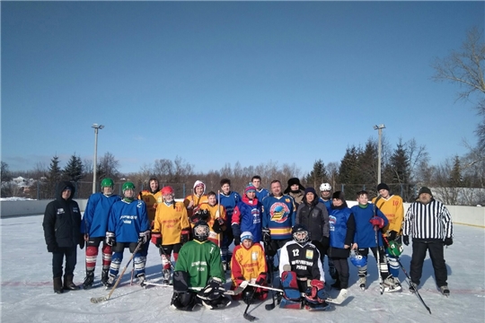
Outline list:
[[[89,196],[81,222],[81,232],[93,238],[104,237],[108,231],[111,206],[119,200],[121,197],[115,194],[105,196],[102,193],[94,193]]]

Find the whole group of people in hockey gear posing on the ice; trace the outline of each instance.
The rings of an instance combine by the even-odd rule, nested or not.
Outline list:
[[[331,288],[346,295],[348,258],[358,267],[360,288],[366,289],[369,249],[379,269],[381,293],[401,290],[399,256],[404,210],[401,197],[391,195],[387,185],[379,184],[379,196],[373,203],[369,203],[366,191],[358,192],[357,205],[349,208],[343,192],[332,194],[329,183],[321,185],[320,196],[314,188],[304,188],[296,178],[288,180],[285,191],[279,180],[271,181],[269,191],[260,184],[260,177],[254,176],[239,195],[231,190],[230,179],[222,179],[217,193],[206,194],[206,185],[198,180],[190,196],[177,202],[173,189],[160,189],[155,178],[149,179],[149,189],[139,194],[132,182],[125,182],[123,196],[113,193],[112,179],[102,179],[101,192],[89,197],[83,219],[76,220],[80,222],[81,236],[72,239],[77,243],[81,238],[79,244],[86,244],[84,289],[93,287],[100,246],[101,284],[110,288],[120,278],[125,249],[133,254],[132,281],[136,277],[137,284],[150,284],[145,279],[145,263],[151,241],[161,257],[163,284],[173,285],[172,308],[178,310],[192,310],[195,305],[223,308],[230,303],[228,295],[242,299],[249,307],[253,301],[266,300],[270,290],[275,291],[271,293],[273,307],[276,298],[281,308],[327,310],[331,302],[337,301],[325,292],[325,256],[335,280]],[[66,183],[62,186],[64,190],[74,189]],[[67,196],[64,190],[62,198]],[[73,212],[79,213],[78,207],[76,210]],[[49,214],[54,212],[49,209]],[[57,218],[58,213],[57,209]],[[73,214],[75,218],[77,213]],[[45,229],[47,216],[48,210]],[[415,234],[421,230],[413,220],[419,216],[410,214],[406,218],[405,244],[413,229]],[[445,241],[453,243],[451,228],[445,236],[450,239]],[[46,233],[48,250],[53,252],[49,239]],[[419,243],[415,248],[413,243],[411,291],[419,285],[427,247],[432,256],[439,256],[437,247]],[[415,249],[419,252],[416,258]],[[62,265],[62,258],[60,262]],[[441,287],[446,274],[440,264],[435,269]],[[72,290],[79,288],[72,282],[74,266],[72,260],[69,267],[66,265],[65,288]],[[224,287],[226,271],[230,271],[232,281],[229,291]],[[274,271],[280,278],[278,285]],[[58,269],[54,289],[62,292],[57,276]],[[449,293],[447,286],[441,289]]]

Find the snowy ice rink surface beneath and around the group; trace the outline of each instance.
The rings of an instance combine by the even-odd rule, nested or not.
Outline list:
[[[110,291],[97,287],[88,291],[64,292],[52,289],[51,256],[47,252],[42,231],[42,215],[1,220],[1,321],[2,322],[247,322],[242,318],[245,304],[238,301],[224,310],[196,307],[192,312],[169,308],[172,290],[166,287],[142,289],[130,286],[130,271],[123,276],[110,301],[91,303],[92,297],[108,295]],[[249,312],[260,322],[481,322],[485,321],[485,249],[484,229],[454,226],[454,244],[445,249],[448,285],[451,296],[445,298],[437,291],[433,268],[425,260],[419,292],[431,309],[430,315],[418,297],[408,292],[380,295],[375,260],[369,258],[368,289],[360,291],[357,268],[350,264],[348,299],[332,310],[265,310],[264,303],[252,304]],[[404,248],[401,262],[409,272],[410,247]],[[122,267],[129,258],[125,251]],[[101,275],[101,255],[98,256],[96,280]],[[131,266],[131,265],[130,265]],[[150,246],[146,264],[147,278],[161,278],[161,260]],[[326,269],[326,264],[325,264]],[[404,280],[401,272],[401,281]],[[229,282],[229,275],[227,275]],[[75,284],[84,279],[84,249],[78,251]],[[327,281],[331,278],[327,275]],[[372,283],[372,284],[369,284]],[[329,284],[330,285],[330,284]],[[229,284],[227,284],[227,287]],[[337,291],[329,291],[336,296]]]

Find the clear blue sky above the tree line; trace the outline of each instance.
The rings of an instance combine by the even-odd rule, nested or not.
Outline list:
[[[415,138],[437,164],[476,142],[472,103],[430,64],[484,25],[484,2],[4,2],[2,161],[114,154],[122,172],[177,155],[339,162]]]

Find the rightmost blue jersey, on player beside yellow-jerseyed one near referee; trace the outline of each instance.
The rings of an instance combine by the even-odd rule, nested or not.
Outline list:
[[[375,230],[374,226],[369,222],[374,217],[374,206],[372,203],[369,203],[364,208],[359,205],[354,205],[351,208],[356,221],[354,242],[357,243],[358,248],[375,247]],[[384,227],[389,223],[387,217],[377,207],[375,208],[375,214],[384,219]],[[379,246],[383,246],[383,235],[380,230],[377,231],[377,239],[379,240]]]

